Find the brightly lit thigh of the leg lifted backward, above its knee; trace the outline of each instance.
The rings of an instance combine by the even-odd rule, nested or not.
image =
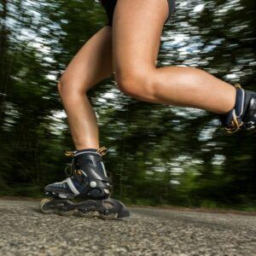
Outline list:
[[[113,68],[116,73],[155,67],[168,15],[166,0],[118,0],[113,15]]]

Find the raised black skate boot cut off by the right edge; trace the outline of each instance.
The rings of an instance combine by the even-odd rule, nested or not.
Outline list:
[[[256,93],[241,89],[236,84],[236,105],[229,113],[221,115],[222,125],[229,133],[241,130],[255,131],[256,128]]]

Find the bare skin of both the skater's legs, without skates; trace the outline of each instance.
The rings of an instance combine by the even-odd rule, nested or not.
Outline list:
[[[236,90],[191,67],[155,67],[168,15],[166,0],[119,0],[113,27],[84,44],[67,67],[59,91],[76,149],[99,148],[96,117],[86,92],[115,72],[119,89],[145,102],[227,113]]]

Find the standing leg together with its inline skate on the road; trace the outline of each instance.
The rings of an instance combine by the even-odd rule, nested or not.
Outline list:
[[[112,28],[106,26],[84,44],[62,75],[58,87],[76,150],[67,152],[73,157],[72,175],[44,187],[53,200],[41,201],[41,212],[69,215],[77,210],[80,216],[103,219],[130,215],[123,203],[109,198],[112,181],[102,159],[107,148],[99,148],[96,116],[86,97],[87,90],[112,73],[112,60]],[[88,200],[70,201],[77,196]]]

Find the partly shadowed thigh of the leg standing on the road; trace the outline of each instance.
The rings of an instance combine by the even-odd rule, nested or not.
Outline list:
[[[71,90],[89,90],[112,72],[112,28],[104,26],[73,57],[61,81]]]

